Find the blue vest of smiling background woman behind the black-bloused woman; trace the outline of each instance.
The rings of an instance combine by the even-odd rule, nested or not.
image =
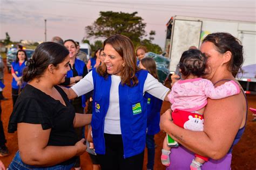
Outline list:
[[[85,64],[82,60],[75,59],[75,69],[78,73],[78,76],[83,76],[83,71],[84,71]],[[73,71],[69,70],[68,73],[66,73],[66,77],[71,78],[73,77]],[[82,106],[85,107],[85,94],[82,96]]]

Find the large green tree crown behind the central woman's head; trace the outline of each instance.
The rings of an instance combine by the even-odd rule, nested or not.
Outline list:
[[[144,38],[147,36],[146,23],[143,23],[142,17],[136,16],[137,13],[100,11],[100,17],[92,25],[85,27],[87,38],[107,38],[116,34],[125,35],[132,40],[134,47],[145,45],[149,51],[161,53],[161,47],[152,43],[156,31],[150,31],[149,39]],[[94,45],[91,45],[92,51],[102,47],[102,42],[97,43],[96,41]]]

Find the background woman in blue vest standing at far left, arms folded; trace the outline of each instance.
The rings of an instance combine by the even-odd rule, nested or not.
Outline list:
[[[21,89],[23,88],[21,78],[23,70],[26,67],[26,60],[28,60],[26,52],[23,50],[18,50],[15,62],[11,63],[11,75],[13,77],[11,82],[11,96],[13,106],[15,105],[16,100],[19,96],[19,87],[21,87]]]

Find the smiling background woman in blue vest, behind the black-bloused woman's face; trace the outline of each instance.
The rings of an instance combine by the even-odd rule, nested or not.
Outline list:
[[[72,39],[67,39],[64,41],[64,46],[69,50],[69,66],[70,70],[68,71],[65,82],[60,85],[72,86],[76,84],[80,79],[82,79],[87,73],[87,67],[82,60],[76,58],[77,56],[77,45],[76,42]],[[86,103],[85,95],[77,97],[71,100],[72,105],[75,107],[76,113],[84,113],[84,107]],[[83,127],[75,128],[78,139],[82,139],[83,135]],[[77,159],[75,169],[80,169],[80,159]]]

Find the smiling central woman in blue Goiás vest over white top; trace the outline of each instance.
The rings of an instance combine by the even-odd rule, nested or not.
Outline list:
[[[147,127],[145,92],[168,100],[170,89],[139,70],[131,40],[123,35],[104,41],[104,63],[70,89],[69,98],[93,93],[92,137],[100,167],[143,169]]]

